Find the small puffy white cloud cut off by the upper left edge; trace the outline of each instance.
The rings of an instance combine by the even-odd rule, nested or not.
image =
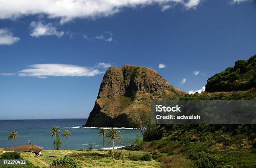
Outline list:
[[[14,37],[13,33],[7,28],[0,29],[0,45],[12,45],[20,41],[19,37]]]

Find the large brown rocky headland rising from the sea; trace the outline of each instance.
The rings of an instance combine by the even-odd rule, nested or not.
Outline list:
[[[178,99],[184,94],[148,67],[110,67],[84,126],[131,127],[128,122],[131,110],[143,108],[149,112],[151,99]]]

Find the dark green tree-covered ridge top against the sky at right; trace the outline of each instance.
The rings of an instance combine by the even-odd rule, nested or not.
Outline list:
[[[241,91],[256,87],[256,55],[248,60],[238,60],[234,67],[210,77],[205,87],[206,92]]]

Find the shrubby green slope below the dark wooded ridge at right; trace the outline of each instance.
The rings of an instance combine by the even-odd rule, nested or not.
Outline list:
[[[256,89],[187,94],[181,99],[256,99]],[[143,149],[158,151],[158,160],[163,161],[166,168],[185,167],[176,163],[196,168],[256,167],[253,125],[169,125],[159,126],[157,130],[163,130],[164,137],[145,143]],[[174,154],[168,156],[166,153]]]

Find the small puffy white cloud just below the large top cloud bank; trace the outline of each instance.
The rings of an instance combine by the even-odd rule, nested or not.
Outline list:
[[[57,36],[61,37],[64,35],[63,31],[57,31],[56,27],[52,23],[47,23],[44,25],[44,21],[32,22],[30,24],[33,29],[30,33],[32,37],[40,37],[40,36]]]

